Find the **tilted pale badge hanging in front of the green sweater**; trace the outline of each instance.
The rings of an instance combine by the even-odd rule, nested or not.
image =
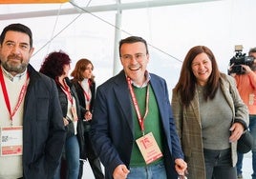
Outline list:
[[[146,164],[150,164],[162,156],[159,145],[152,132],[137,139],[136,143]]]

